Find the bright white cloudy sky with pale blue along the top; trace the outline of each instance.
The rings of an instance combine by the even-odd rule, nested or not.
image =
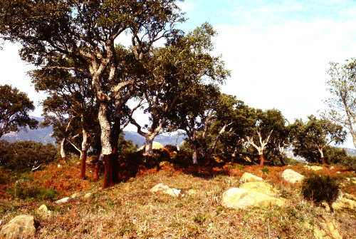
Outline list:
[[[214,54],[231,70],[221,90],[253,108],[276,108],[288,121],[326,109],[328,63],[356,57],[356,1],[194,0],[179,3],[193,31],[209,22],[217,31]],[[19,58],[19,46],[0,51],[0,84],[36,93]],[[32,113],[41,116],[41,108]],[[349,137],[350,138],[350,137]],[[349,140],[344,146],[354,148]]]

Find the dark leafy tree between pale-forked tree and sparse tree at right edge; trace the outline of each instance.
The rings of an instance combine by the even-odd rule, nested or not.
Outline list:
[[[325,119],[317,119],[315,116],[308,116],[308,121],[295,120],[295,130],[293,135],[293,152],[304,157],[308,162],[317,161],[325,163],[325,147],[334,142],[335,145],[343,143],[346,138],[346,131],[342,126]],[[319,157],[317,157],[319,155]]]

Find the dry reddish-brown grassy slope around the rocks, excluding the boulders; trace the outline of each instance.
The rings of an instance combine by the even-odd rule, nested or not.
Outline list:
[[[313,238],[305,223],[315,225],[325,208],[313,205],[300,195],[300,185],[281,180],[286,168],[308,174],[303,166],[268,167],[267,174],[258,166],[234,165],[141,167],[136,176],[113,188],[100,190],[101,182],[80,180],[78,161],[57,168],[21,176],[0,172],[0,220],[2,225],[20,214],[31,214],[36,220],[36,238]],[[336,171],[341,173],[337,174]],[[222,208],[221,195],[241,185],[244,172],[262,177],[290,200],[282,208],[235,210]],[[2,173],[2,174],[1,174]],[[335,166],[325,174],[340,178],[355,177],[355,172]],[[189,190],[190,194],[174,198],[149,193],[157,183]],[[63,198],[77,192],[92,192],[90,199],[75,199],[66,205],[50,200],[14,199],[6,191],[14,186],[54,188]],[[7,188],[7,189],[6,189]],[[356,195],[355,184],[346,183],[342,191]],[[43,220],[36,209],[45,203],[54,217]],[[337,210],[334,218],[343,238],[356,235],[355,210]]]

